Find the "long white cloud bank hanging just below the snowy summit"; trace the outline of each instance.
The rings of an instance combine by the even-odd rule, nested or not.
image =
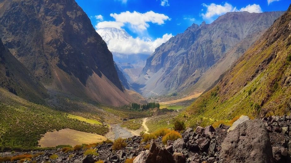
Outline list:
[[[162,43],[165,43],[173,35],[165,34],[162,38],[152,40],[150,38],[132,38],[129,37],[125,40],[111,39],[108,43],[108,49],[112,52],[118,52],[122,54],[152,54],[154,50]]]

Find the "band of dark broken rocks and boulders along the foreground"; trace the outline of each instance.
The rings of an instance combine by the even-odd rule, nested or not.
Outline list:
[[[218,128],[198,126],[194,131],[188,128],[182,138],[168,141],[163,145],[162,137],[147,143],[142,137],[126,139],[124,149],[112,150],[112,143],[104,143],[92,147],[98,156],[84,156],[84,150],[64,153],[61,149],[44,151],[31,161],[94,163],[103,160],[105,163],[124,163],[126,159],[134,158],[134,163],[173,162],[173,163],[283,163],[291,159],[291,117],[269,116],[262,120],[246,120],[227,133],[229,126],[220,124]],[[256,132],[254,132],[256,131]],[[36,154],[37,152],[29,152]],[[8,153],[4,153],[9,155]],[[15,153],[17,155],[19,153]],[[56,154],[57,159],[50,159]]]

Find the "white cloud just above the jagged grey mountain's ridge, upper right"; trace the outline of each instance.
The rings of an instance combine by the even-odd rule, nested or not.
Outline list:
[[[273,0],[274,1],[274,0]],[[206,5],[205,3],[202,4],[202,6],[206,7],[206,13],[201,14],[204,19],[211,20],[214,16],[220,16],[227,12],[234,12],[234,11],[248,11],[250,13],[256,12],[260,13],[262,12],[262,9],[260,5],[253,4],[253,5],[247,5],[245,7],[242,7],[240,10],[237,9],[237,7],[233,7],[231,4],[225,2],[224,5],[219,5],[215,3],[211,3],[210,5]]]

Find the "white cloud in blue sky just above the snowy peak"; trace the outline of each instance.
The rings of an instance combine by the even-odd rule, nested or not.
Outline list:
[[[171,20],[167,15],[155,13],[153,11],[148,11],[146,13],[125,11],[120,14],[110,14],[110,16],[114,18],[115,21],[99,22],[95,27],[97,29],[104,27],[115,27],[121,29],[121,27],[129,24],[133,30],[142,32],[150,26],[149,22],[162,25],[166,20]]]

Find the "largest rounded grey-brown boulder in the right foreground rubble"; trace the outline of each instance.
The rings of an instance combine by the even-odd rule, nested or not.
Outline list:
[[[265,124],[247,120],[228,133],[221,145],[222,163],[273,163],[272,147]]]

